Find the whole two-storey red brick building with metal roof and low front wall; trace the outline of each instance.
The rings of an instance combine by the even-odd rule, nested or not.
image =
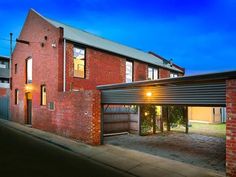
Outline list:
[[[97,85],[176,77],[184,70],[30,10],[12,60],[13,121],[100,144]]]

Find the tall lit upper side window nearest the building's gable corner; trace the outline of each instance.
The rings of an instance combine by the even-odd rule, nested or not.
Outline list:
[[[74,77],[85,78],[85,49],[74,47]]]

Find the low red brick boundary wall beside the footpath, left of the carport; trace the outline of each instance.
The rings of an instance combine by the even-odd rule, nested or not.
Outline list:
[[[100,144],[99,91],[60,92],[55,110],[34,109],[32,126],[88,144]]]

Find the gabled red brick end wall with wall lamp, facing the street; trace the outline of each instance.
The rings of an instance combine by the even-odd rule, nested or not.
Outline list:
[[[38,14],[30,11],[21,34],[20,39],[30,42],[30,45],[17,43],[13,52],[12,60],[12,91],[11,91],[11,119],[20,123],[26,121],[26,59],[32,57],[33,62],[33,83],[32,83],[32,107],[40,107],[40,85],[45,84],[47,87],[47,100],[55,100],[59,88],[58,65],[59,48],[61,48],[61,29],[55,28]],[[52,43],[56,43],[53,48]],[[17,73],[15,70],[17,64]],[[61,71],[60,71],[61,72]],[[15,105],[15,89],[19,90],[19,104]],[[42,110],[44,109],[41,107]],[[43,117],[50,113],[42,111]],[[45,123],[46,124],[46,123]]]

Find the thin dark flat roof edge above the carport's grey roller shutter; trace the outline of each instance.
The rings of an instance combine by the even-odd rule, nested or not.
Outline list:
[[[131,83],[99,85],[97,86],[97,89],[110,90],[110,89],[125,89],[125,88],[145,87],[154,85],[168,85],[168,84],[177,85],[177,84],[195,83],[195,82],[216,82],[235,78],[236,78],[236,70],[232,70],[232,71],[190,75],[176,78],[165,78],[158,80],[136,81]]]

